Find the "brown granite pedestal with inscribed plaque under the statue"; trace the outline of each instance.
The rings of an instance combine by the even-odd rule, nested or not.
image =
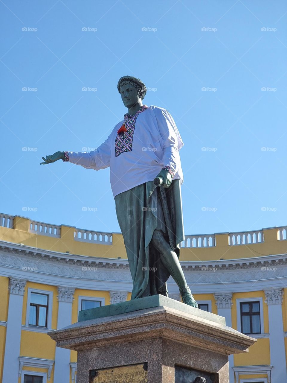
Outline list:
[[[77,383],[229,383],[228,355],[256,342],[162,295],[81,311],[79,322],[48,334],[77,350]]]

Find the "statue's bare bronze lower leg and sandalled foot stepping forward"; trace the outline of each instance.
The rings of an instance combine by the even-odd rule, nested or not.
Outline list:
[[[190,288],[186,283],[178,256],[176,255],[176,252],[171,249],[168,242],[166,242],[161,230],[155,230],[153,232],[152,244],[160,252],[161,262],[165,265],[171,277],[173,277],[174,281],[178,285],[183,303],[198,308],[198,305],[191,294]]]

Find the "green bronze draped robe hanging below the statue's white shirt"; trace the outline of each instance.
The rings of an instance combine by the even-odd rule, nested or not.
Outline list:
[[[121,228],[133,288],[131,299],[162,294],[168,296],[166,281],[170,273],[152,244],[158,227],[157,198],[162,208],[165,239],[179,257],[179,243],[184,241],[181,185],[173,180],[169,188],[156,187],[153,181],[142,183],[115,196],[116,214]],[[161,215],[162,216],[162,215]]]

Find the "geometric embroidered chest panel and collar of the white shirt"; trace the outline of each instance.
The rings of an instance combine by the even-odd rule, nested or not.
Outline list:
[[[116,157],[125,152],[132,151],[132,137],[134,136],[135,130],[135,121],[139,113],[145,111],[148,108],[147,105],[143,105],[137,113],[130,116],[127,113],[124,115],[124,125],[126,126],[127,131],[118,133],[114,143]]]

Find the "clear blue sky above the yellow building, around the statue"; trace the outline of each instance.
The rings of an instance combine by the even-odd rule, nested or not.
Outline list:
[[[0,8],[0,212],[120,231],[109,169],[39,164],[98,147],[127,111],[117,81],[133,75],[149,89],[144,103],[166,108],[183,138],[186,234],[287,224],[285,1]]]

